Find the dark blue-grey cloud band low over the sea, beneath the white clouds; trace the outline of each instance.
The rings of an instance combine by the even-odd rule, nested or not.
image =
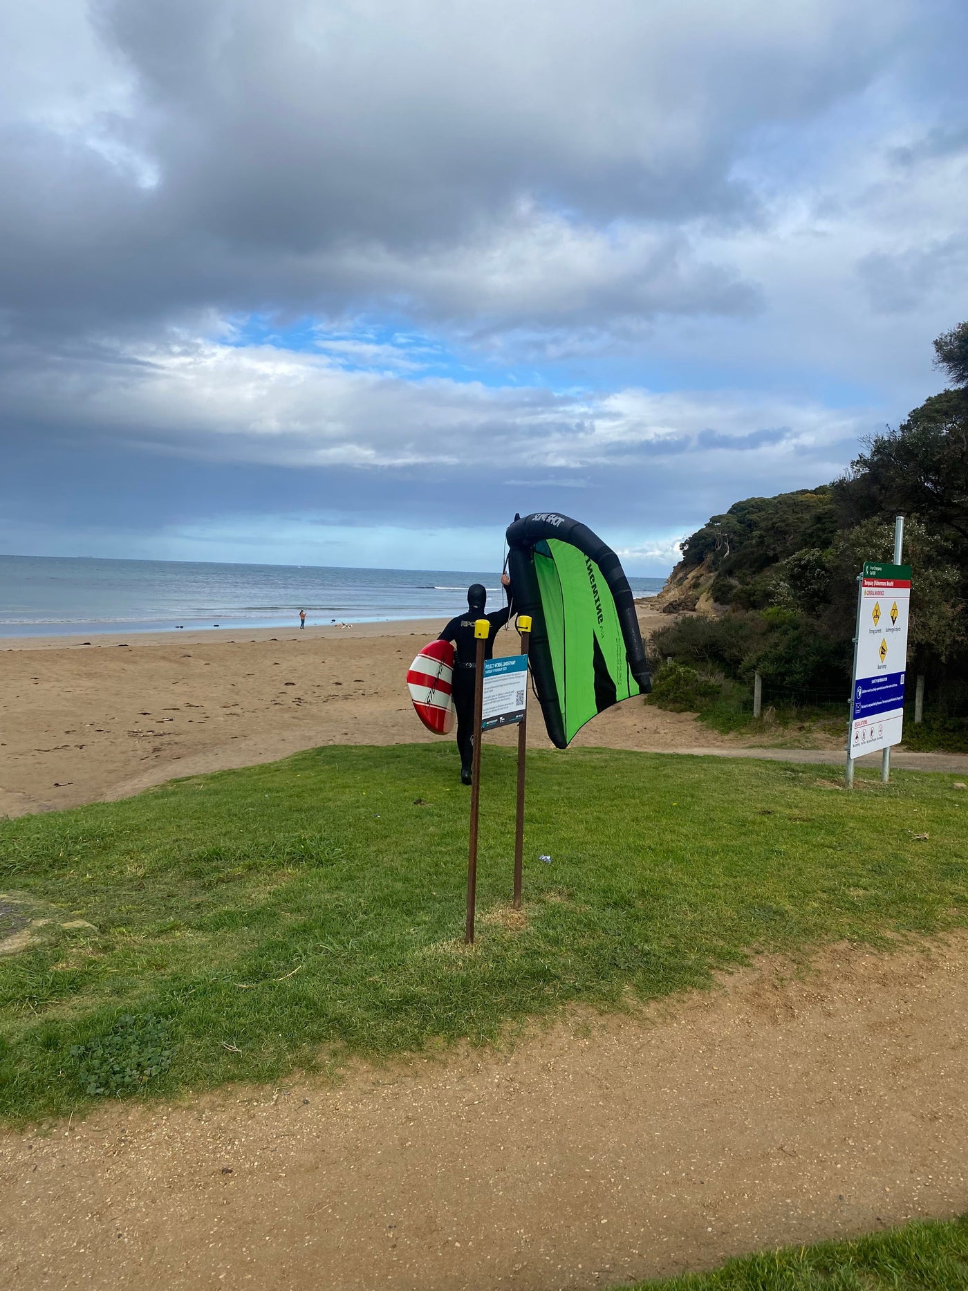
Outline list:
[[[802,463],[774,463],[777,488],[808,487],[835,474],[835,453]],[[150,473],[150,494],[145,488]],[[37,482],[43,487],[37,488]],[[470,487],[469,487],[470,485]],[[539,471],[515,480],[499,463],[400,467],[368,471],[352,467],[293,471],[247,462],[212,462],[150,456],[137,451],[63,447],[55,458],[19,452],[0,479],[0,536],[9,544],[19,529],[52,525],[74,534],[72,551],[84,553],[84,536],[160,533],[197,525],[267,520],[289,515],[350,529],[396,524],[434,528],[483,528],[496,533],[515,511],[560,510],[581,514],[607,532],[681,533],[697,527],[728,502],[758,494],[759,476],[721,456],[683,473],[676,457],[627,454],[621,466],[603,465],[592,478],[549,479]],[[117,554],[124,554],[119,546]]]

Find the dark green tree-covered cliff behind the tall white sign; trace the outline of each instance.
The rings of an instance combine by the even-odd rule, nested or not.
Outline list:
[[[656,635],[660,658],[845,698],[857,574],[892,558],[900,514],[909,670],[940,710],[968,715],[968,323],[934,351],[951,386],[871,436],[840,479],[736,502],[683,542],[661,599],[698,612]]]

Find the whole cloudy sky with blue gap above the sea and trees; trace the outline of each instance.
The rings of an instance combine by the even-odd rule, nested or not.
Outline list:
[[[0,15],[0,551],[662,574],[968,318],[964,0]]]

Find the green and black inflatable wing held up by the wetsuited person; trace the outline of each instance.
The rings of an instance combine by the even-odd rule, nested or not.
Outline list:
[[[567,749],[596,713],[652,689],[632,593],[614,551],[567,515],[515,518],[507,546],[545,726]]]

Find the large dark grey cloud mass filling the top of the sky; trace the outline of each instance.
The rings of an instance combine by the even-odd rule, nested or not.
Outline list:
[[[749,310],[683,222],[754,214],[746,133],[862,86],[893,30],[889,6],[834,0],[92,13],[117,105],[0,139],[4,298],[36,327],[391,300],[539,325]]]

